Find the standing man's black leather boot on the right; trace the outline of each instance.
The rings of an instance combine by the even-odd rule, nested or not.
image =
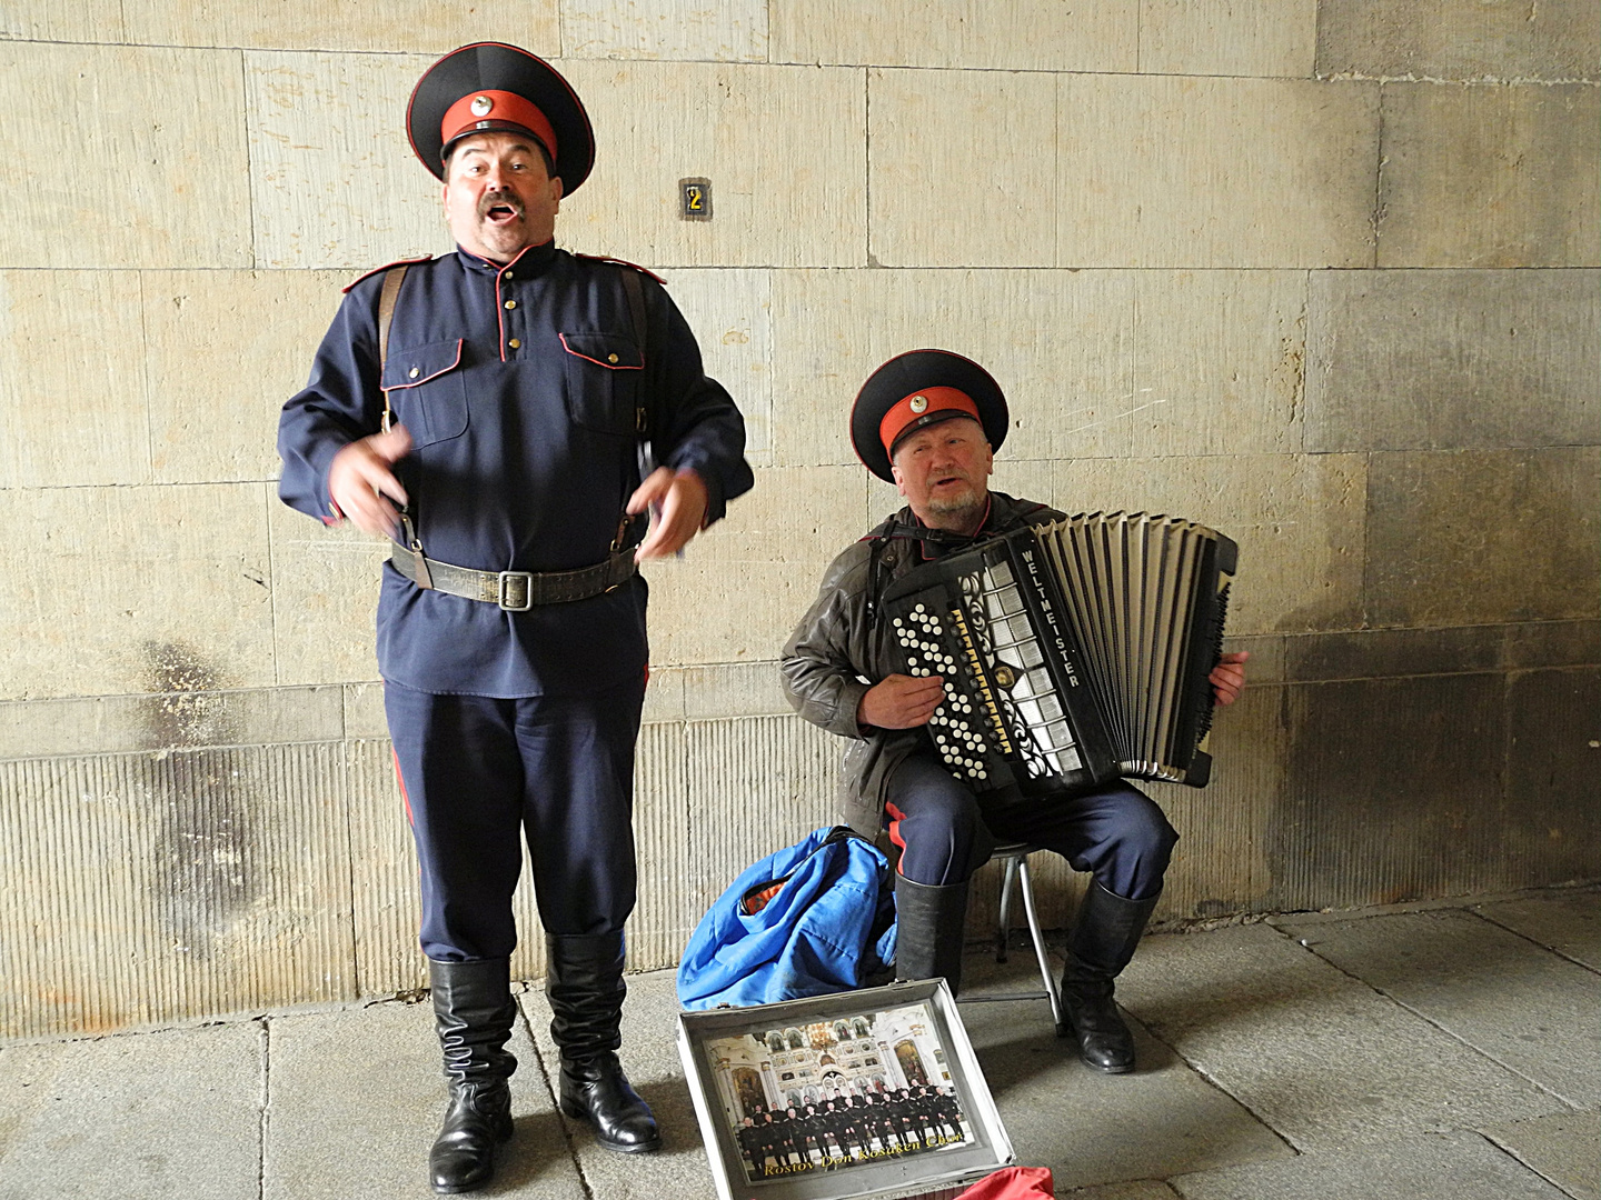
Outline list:
[[[658,1149],[656,1118],[616,1061],[628,992],[623,934],[546,934],[544,954],[551,1038],[562,1051],[562,1112],[589,1122],[608,1150]]]

